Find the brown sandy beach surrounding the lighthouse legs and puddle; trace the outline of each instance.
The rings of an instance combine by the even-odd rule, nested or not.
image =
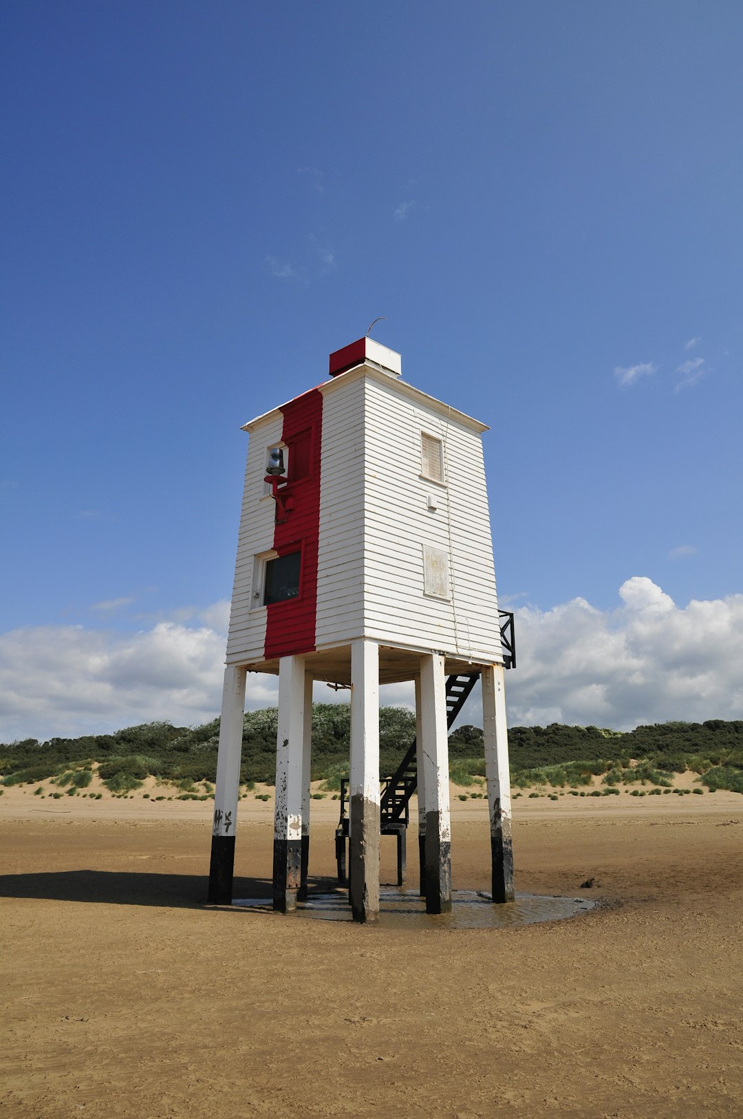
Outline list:
[[[210,802],[7,790],[0,1110],[740,1116],[743,797],[515,803],[517,888],[594,911],[422,930],[206,908]],[[321,888],[337,803],[313,810]],[[454,886],[487,890],[486,807],[452,815]],[[241,803],[235,896],[269,894],[271,818]]]

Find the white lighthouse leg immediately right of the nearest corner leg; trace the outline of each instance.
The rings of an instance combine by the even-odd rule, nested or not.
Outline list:
[[[444,658],[434,652],[421,657],[426,913],[444,913],[451,909],[451,824],[446,730]]]

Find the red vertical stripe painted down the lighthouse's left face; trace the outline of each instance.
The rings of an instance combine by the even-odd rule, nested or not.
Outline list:
[[[299,595],[266,606],[266,660],[312,652],[318,604],[322,395],[312,388],[284,404],[281,412],[281,438],[289,448],[289,482],[281,492],[292,508],[275,526],[273,546],[279,555],[301,549],[302,560]]]

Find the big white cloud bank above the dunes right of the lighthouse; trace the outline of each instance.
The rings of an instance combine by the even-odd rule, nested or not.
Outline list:
[[[743,717],[743,594],[679,608],[639,575],[619,593],[615,611],[584,599],[516,611],[517,668],[506,676],[511,724],[629,730]]]

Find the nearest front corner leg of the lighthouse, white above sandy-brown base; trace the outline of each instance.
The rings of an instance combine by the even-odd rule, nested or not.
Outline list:
[[[355,921],[379,915],[379,649],[351,645],[350,903]]]

